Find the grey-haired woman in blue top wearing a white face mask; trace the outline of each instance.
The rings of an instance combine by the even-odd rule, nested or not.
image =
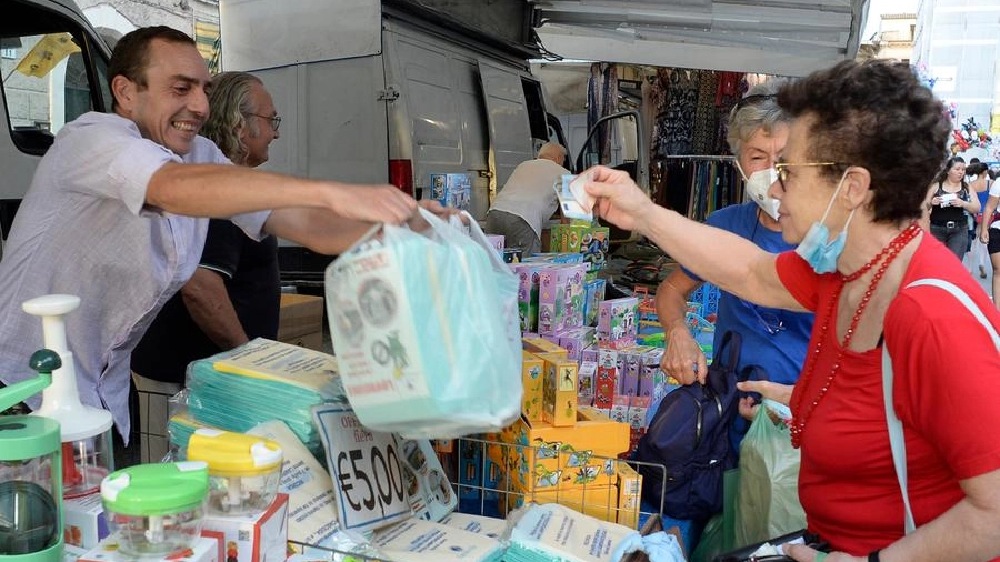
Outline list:
[[[727,141],[736,155],[736,165],[746,181],[749,201],[730,205],[709,215],[707,224],[742,237],[770,252],[792,247],[781,238],[778,201],[767,194],[773,182],[774,162],[788,139],[790,119],[778,107],[777,92],[783,82],[770,80],[756,86],[740,100],[729,117]],[[686,322],[687,301],[703,281],[684,268],[676,269],[657,289],[657,315],[663,325],[667,349],[660,367],[682,384],[692,384],[707,372],[704,353]],[[799,378],[813,317],[806,312],[759,307],[732,293],[719,297],[716,320],[718,347],[729,330],[742,337],[737,365],[759,365],[774,384],[774,392],[791,395]],[[786,399],[787,402],[787,399]],[[739,454],[739,443],[756,412],[753,399],[740,399],[741,419],[731,425],[730,441]]]

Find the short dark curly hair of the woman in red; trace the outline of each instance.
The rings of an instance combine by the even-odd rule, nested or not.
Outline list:
[[[821,168],[821,173],[839,178],[850,165],[868,170],[876,222],[920,217],[951,124],[908,64],[843,61],[789,83],[778,103],[796,118],[814,119],[810,160],[843,164]]]

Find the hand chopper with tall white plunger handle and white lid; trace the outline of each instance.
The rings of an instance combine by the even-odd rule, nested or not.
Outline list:
[[[62,428],[62,493],[79,498],[96,493],[101,480],[114,470],[111,451],[111,412],[80,403],[73,354],[66,343],[63,317],[80,305],[71,294],[48,294],[24,301],[24,312],[41,317],[46,348],[62,358],[52,384],[42,392],[34,415],[51,418]]]

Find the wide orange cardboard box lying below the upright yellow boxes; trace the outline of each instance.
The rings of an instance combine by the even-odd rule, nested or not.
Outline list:
[[[573,428],[529,422],[523,417],[500,434],[488,454],[503,466],[510,490],[574,489],[616,483],[619,453],[629,448],[629,426],[593,408],[580,408]]]

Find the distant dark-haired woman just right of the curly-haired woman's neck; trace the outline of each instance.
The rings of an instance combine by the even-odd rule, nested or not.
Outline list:
[[[969,218],[979,212],[979,198],[966,183],[966,160],[952,157],[927,191],[924,209],[930,211],[930,232],[959,260],[969,248]]]

